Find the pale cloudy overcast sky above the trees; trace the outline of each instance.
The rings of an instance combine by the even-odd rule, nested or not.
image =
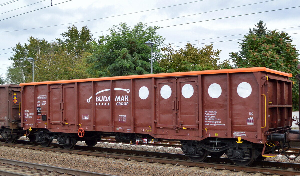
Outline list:
[[[41,2],[42,1],[42,2]],[[159,35],[165,38],[164,43],[174,43],[174,46],[186,45],[187,41],[196,47],[213,44],[214,49],[221,50],[220,60],[229,59],[229,52],[238,51],[238,44],[243,35],[253,28],[259,19],[266,23],[269,30],[279,29],[287,32],[294,39],[293,45],[300,48],[300,1],[298,0],[1,0],[0,1],[0,75],[5,73],[11,60],[8,60],[13,53],[11,49],[18,42],[24,44],[29,36],[46,39],[62,38],[60,35],[67,30],[67,27],[74,23],[79,29],[87,26],[93,34],[93,38],[109,34],[106,30],[120,22],[125,22],[128,26],[138,22],[149,23],[149,26],[162,27],[158,29]],[[8,2],[9,4],[6,4]],[[38,3],[37,3],[38,2]],[[64,2],[64,3],[61,3]],[[261,3],[259,3],[261,2]],[[36,3],[34,5],[31,5]],[[61,4],[58,4],[61,3]],[[183,4],[186,3],[186,4]],[[258,4],[253,4],[258,3]],[[58,5],[55,5],[58,4]],[[182,4],[182,5],[180,5]],[[249,5],[252,4],[252,5]],[[26,6],[27,7],[23,7]],[[176,5],[176,6],[174,6]],[[245,5],[245,6],[243,6]],[[167,7],[172,6],[172,7]],[[237,7],[241,6],[241,7]],[[21,8],[22,7],[22,8]],[[46,8],[44,8],[46,7]],[[166,7],[166,8],[164,8]],[[233,8],[235,7],[235,8]],[[19,8],[17,10],[13,10]],[[40,9],[43,8],[43,9]],[[156,9],[160,8],[160,9]],[[224,9],[229,8],[229,9]],[[290,8],[284,10],[277,10]],[[40,9],[40,10],[36,10]],[[156,10],[151,10],[156,9]],[[224,10],[220,10],[224,9]],[[13,10],[13,11],[11,11]],[[36,11],[33,11],[36,10]],[[146,11],[150,10],[150,11]],[[218,10],[218,11],[216,11]],[[271,11],[277,10],[277,11]],[[10,11],[10,12],[7,12]],[[29,12],[32,11],[32,12]],[[144,11],[144,12],[139,12]],[[213,11],[213,12],[208,12]],[[264,12],[270,11],[270,12]],[[26,13],[29,12],[29,13]],[[139,12],[134,14],[128,14]],[[204,13],[208,12],[208,13]],[[263,12],[263,13],[258,13]],[[26,14],[23,14],[26,13]],[[202,14],[199,14],[202,13]],[[256,13],[256,14],[251,14]],[[22,14],[22,15],[19,15]],[[122,15],[128,14],[128,15]],[[249,14],[249,15],[244,15]],[[18,16],[16,16],[18,15]],[[121,15],[118,17],[111,17]],[[189,16],[187,16],[189,15]],[[232,17],[242,15],[238,17]],[[13,17],[16,16],[16,17]],[[182,17],[187,16],[187,17]],[[104,18],[109,17],[109,18]],[[180,17],[180,18],[176,18]],[[228,17],[228,18],[224,18]],[[7,19],[6,19],[7,18]],[[99,20],[93,20],[104,18]],[[175,19],[170,19],[175,18]],[[223,19],[217,19],[223,18]],[[170,19],[170,20],[167,20]],[[86,22],[79,22],[90,20]],[[154,21],[164,20],[151,23]],[[205,21],[208,20],[208,21]],[[203,22],[199,22],[203,21]],[[76,23],[79,22],[79,23]],[[193,23],[196,22],[196,23]],[[59,25],[70,23],[65,25]],[[184,24],[190,23],[190,24]],[[182,25],[181,25],[182,24]],[[59,25],[59,26],[52,26]],[[172,26],[177,25],[177,26]],[[39,29],[29,29],[36,27]],[[171,26],[171,27],[165,27]],[[298,26],[298,27],[296,27]],[[292,27],[292,28],[291,28]],[[288,29],[282,29],[288,28]],[[28,29],[28,30],[20,30]],[[19,30],[19,31],[13,31]],[[7,32],[11,31],[11,32]],[[104,32],[100,32],[104,31]],[[298,34],[293,34],[298,33]],[[236,36],[231,36],[236,35]],[[230,36],[230,37],[224,37]],[[216,38],[220,37],[220,38]],[[215,39],[210,39],[215,38]],[[199,40],[199,42],[198,42]],[[228,41],[234,40],[234,41]],[[179,43],[182,42],[182,43]],[[200,44],[198,44],[200,43]],[[206,44],[202,44],[206,43]],[[176,47],[179,49],[180,47]],[[6,49],[6,50],[2,50]],[[299,51],[298,51],[299,52]],[[9,54],[5,54],[9,53]],[[3,74],[3,76],[5,76]]]

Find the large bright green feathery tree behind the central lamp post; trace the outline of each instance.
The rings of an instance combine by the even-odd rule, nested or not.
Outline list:
[[[138,23],[132,29],[126,23],[113,26],[110,35],[101,36],[94,43],[93,55],[87,58],[90,67],[88,73],[96,77],[125,76],[151,73],[151,48],[144,44],[153,43],[153,73],[160,73],[158,58],[161,56],[159,47],[164,38],[157,34],[157,26]]]

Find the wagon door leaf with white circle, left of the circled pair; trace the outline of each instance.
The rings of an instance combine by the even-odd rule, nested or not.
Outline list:
[[[175,79],[156,81],[156,123],[158,128],[175,128]]]

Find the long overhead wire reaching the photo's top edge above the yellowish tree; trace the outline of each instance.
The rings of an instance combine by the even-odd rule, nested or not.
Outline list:
[[[204,0],[199,0],[199,1],[204,1]],[[199,1],[193,1],[193,2],[199,2]],[[183,3],[183,4],[177,4],[177,5],[184,5],[184,4],[189,4],[189,3],[193,3],[193,2],[187,2],[187,3]],[[122,16],[122,15],[135,14],[135,13],[146,12],[146,11],[152,11],[152,10],[157,10],[157,9],[162,9],[162,8],[173,7],[173,6],[177,6],[177,5],[170,5],[170,6],[161,7],[161,8],[154,8],[154,9],[149,9],[149,10],[144,10],[144,11],[138,11],[138,12],[132,12],[132,13],[127,13],[127,14],[121,14],[121,15],[114,15],[114,16],[110,16],[110,17],[103,17],[103,18],[97,18],[97,19],[91,19],[91,20],[77,21],[77,22],[73,22],[73,23],[64,23],[64,24],[56,24],[56,25],[51,25],[51,26],[42,26],[42,27],[35,27],[35,28],[28,28],[28,29],[18,29],[18,30],[10,30],[10,31],[1,31],[1,32],[22,31],[22,30],[29,30],[29,29],[39,29],[39,28],[45,28],[45,27],[53,27],[53,26],[61,26],[61,25],[66,25],[66,24],[81,23],[81,22],[86,22],[86,21],[100,20],[100,19],[111,18],[111,17],[119,17],[119,16]]]

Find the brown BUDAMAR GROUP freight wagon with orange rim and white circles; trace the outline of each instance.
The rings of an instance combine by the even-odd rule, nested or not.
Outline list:
[[[267,137],[290,129],[291,76],[256,67],[22,83],[22,127],[43,146],[177,139],[193,161],[225,152],[248,165],[275,156]]]

